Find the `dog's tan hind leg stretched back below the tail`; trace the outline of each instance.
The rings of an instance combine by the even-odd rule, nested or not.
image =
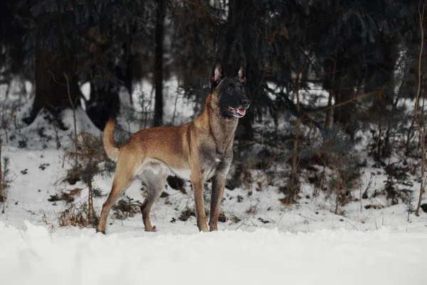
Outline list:
[[[135,160],[127,160],[127,157],[120,157],[117,161],[116,174],[112,182],[112,189],[108,199],[102,205],[100,222],[96,231],[105,234],[105,224],[107,222],[108,213],[111,207],[117,202],[117,199],[127,190],[127,187],[132,183],[137,170],[137,162]]]

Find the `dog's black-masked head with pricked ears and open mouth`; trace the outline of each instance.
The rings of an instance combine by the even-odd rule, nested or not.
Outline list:
[[[213,100],[225,118],[242,118],[249,108],[250,101],[246,97],[245,69],[239,62],[235,77],[227,77],[220,61],[216,61],[211,74],[211,100]]]

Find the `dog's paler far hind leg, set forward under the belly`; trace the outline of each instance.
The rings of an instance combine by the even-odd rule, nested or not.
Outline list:
[[[162,195],[167,179],[167,167],[164,165],[155,165],[154,168],[150,167],[142,173],[142,179],[147,185],[148,192],[147,197],[145,197],[141,205],[142,222],[144,222],[146,232],[154,232],[156,228],[152,227],[149,220],[149,212],[154,202]]]

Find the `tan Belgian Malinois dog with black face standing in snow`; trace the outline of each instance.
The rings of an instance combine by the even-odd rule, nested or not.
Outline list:
[[[233,159],[233,140],[238,124],[249,108],[243,83],[245,70],[239,63],[236,77],[227,77],[221,62],[216,61],[211,74],[211,93],[206,98],[199,118],[181,127],[159,127],[139,130],[122,147],[114,142],[115,122],[105,125],[105,152],[117,161],[112,190],[102,205],[97,232],[105,233],[108,212],[117,199],[139,175],[147,186],[148,195],[141,206],[145,230],[155,227],[149,220],[154,201],[162,194],[167,169],[191,180],[196,202],[197,227],[201,232],[216,231],[219,206],[226,185],[226,176]],[[204,207],[204,182],[212,180],[211,218],[209,229]]]

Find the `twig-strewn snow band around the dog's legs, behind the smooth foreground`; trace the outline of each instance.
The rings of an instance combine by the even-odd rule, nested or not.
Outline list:
[[[58,213],[65,209],[65,204],[60,201],[48,202],[51,195],[61,191],[73,190],[75,187],[82,187],[82,194],[76,197],[75,202],[86,201],[87,190],[84,189],[83,184],[68,185],[63,182],[66,169],[69,167],[68,160],[64,160],[63,151],[51,149],[22,150],[6,145],[2,155],[10,157],[14,182],[7,194],[6,211],[5,214],[0,214],[0,222],[14,227],[23,227],[23,220],[26,219],[33,224],[44,224],[47,227],[58,228]],[[45,170],[42,170],[39,168],[42,164],[49,165]],[[26,174],[22,174],[21,171],[23,170],[27,170]],[[275,171],[279,172],[278,169]],[[367,182],[369,172],[370,169],[367,168],[366,174],[362,176],[364,182]],[[225,190],[223,196],[225,199],[221,203],[221,210],[228,219],[238,217],[241,221],[232,222],[228,220],[225,223],[219,223],[219,229],[253,231],[259,227],[268,229],[277,227],[280,232],[296,233],[313,232],[320,229],[335,230],[341,227],[348,230],[375,231],[388,227],[394,233],[423,232],[427,234],[427,215],[423,212],[421,212],[420,217],[411,214],[408,220],[405,204],[396,204],[383,209],[365,209],[364,206],[371,204],[371,201],[362,199],[362,202],[352,202],[347,205],[344,208],[346,217],[343,217],[333,214],[334,204],[330,204],[330,199],[325,199],[322,196],[311,197],[313,192],[311,185],[302,185],[300,204],[285,207],[279,201],[284,197],[283,193],[278,191],[277,186],[268,185],[269,182],[263,180],[263,171],[258,171],[258,174],[254,174],[253,178],[260,181],[262,189],[257,190],[259,185],[254,184],[250,188],[242,185],[235,190]],[[278,181],[274,182],[275,184],[283,180],[282,177],[276,179]],[[384,187],[384,175],[376,175],[376,179],[378,180],[376,187],[379,189]],[[414,190],[419,187],[419,183],[415,183]],[[112,185],[112,177],[96,177],[94,185],[108,194]],[[141,187],[140,180],[135,179],[125,195],[142,202],[144,192],[141,191]],[[159,198],[154,204],[151,217],[159,232],[174,234],[194,234],[197,232],[194,217],[190,217],[186,222],[181,222],[178,219],[186,207],[194,207],[193,192],[189,182],[186,182],[185,188],[186,194],[166,186],[164,192],[167,192],[169,197]],[[205,190],[207,209],[209,209],[210,189],[211,185],[208,184]],[[252,192],[251,195],[249,195],[250,192]],[[306,195],[310,195],[310,197],[307,198]],[[239,196],[241,202],[238,202]],[[105,197],[95,199],[97,214],[100,214],[105,199]],[[380,197],[376,199],[376,204],[385,204]],[[360,209],[361,206],[362,210]],[[176,219],[176,223],[170,222],[172,218]],[[144,229],[140,214],[123,221],[110,217],[108,223],[108,233],[130,230],[143,231]]]

